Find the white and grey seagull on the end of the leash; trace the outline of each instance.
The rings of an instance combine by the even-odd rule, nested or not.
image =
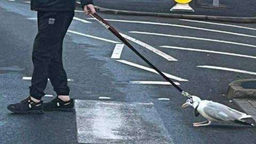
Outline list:
[[[254,124],[246,122],[246,118],[252,118],[252,116],[229,108],[218,102],[209,100],[201,100],[196,96],[191,96],[187,99],[186,103],[182,105],[183,108],[191,106],[195,109],[195,115],[202,115],[207,121],[193,123],[193,126],[207,126],[212,122],[235,122],[238,124],[254,126]]]

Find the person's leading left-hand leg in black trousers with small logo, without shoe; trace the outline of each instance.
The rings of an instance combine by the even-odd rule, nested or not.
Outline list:
[[[55,25],[57,12],[39,12],[37,15],[38,34],[33,48],[33,76],[30,86],[30,97],[40,100],[47,85],[51,59],[59,45],[58,26]]]

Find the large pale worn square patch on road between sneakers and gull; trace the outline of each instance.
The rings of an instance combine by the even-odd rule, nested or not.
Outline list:
[[[173,143],[154,105],[75,100],[75,109],[78,143]]]

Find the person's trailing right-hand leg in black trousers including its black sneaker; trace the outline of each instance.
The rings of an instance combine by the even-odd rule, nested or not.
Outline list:
[[[50,102],[44,103],[44,111],[74,111],[74,101],[69,98],[69,87],[67,84],[67,74],[62,63],[62,43],[68,27],[73,20],[74,12],[58,12],[56,25],[60,27],[59,34],[61,41],[54,52],[49,66],[49,79],[52,83],[54,91],[58,97]]]

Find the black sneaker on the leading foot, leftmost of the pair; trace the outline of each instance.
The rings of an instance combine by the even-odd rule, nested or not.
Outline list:
[[[43,114],[43,101],[34,102],[30,97],[22,100],[19,103],[11,104],[7,107],[12,113],[15,114]]]

